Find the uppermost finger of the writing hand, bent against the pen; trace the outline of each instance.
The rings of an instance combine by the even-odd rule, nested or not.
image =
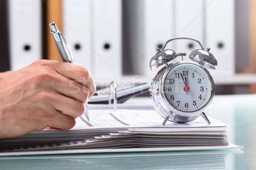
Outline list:
[[[89,98],[95,93],[96,86],[93,81],[93,77],[87,68],[67,62],[57,62],[55,64],[55,69],[58,74],[61,74],[69,79],[73,79],[82,85],[86,85],[90,91]]]

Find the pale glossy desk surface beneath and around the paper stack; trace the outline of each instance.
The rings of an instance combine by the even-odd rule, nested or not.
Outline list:
[[[148,97],[130,99],[129,104],[150,104]],[[231,127],[229,140],[244,146],[244,153],[229,150],[90,153],[0,157],[0,169],[256,169],[256,95],[215,96],[207,114]]]

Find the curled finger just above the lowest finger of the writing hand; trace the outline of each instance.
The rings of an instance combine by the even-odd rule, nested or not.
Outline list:
[[[55,99],[52,100],[52,106],[61,113],[71,116],[74,119],[81,116],[85,111],[83,102],[62,94],[55,94],[54,97]]]

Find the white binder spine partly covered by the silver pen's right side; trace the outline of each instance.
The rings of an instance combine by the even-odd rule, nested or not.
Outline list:
[[[63,0],[64,36],[73,54],[74,63],[94,75],[91,38],[91,0]]]

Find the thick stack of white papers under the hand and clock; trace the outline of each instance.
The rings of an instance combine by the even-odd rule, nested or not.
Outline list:
[[[151,106],[89,105],[90,122],[80,116],[71,130],[47,128],[26,136],[0,140],[1,152],[51,149],[227,146],[229,127],[213,118],[189,123],[167,122]],[[95,109],[97,108],[97,109]]]

